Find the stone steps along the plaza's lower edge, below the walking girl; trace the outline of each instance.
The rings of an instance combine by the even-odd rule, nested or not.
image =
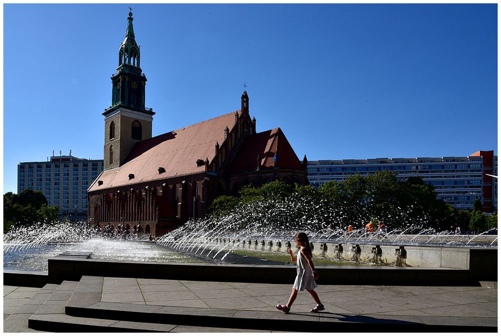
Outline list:
[[[101,302],[104,278],[83,276],[62,283],[61,294],[46,304],[62,301],[57,307],[40,307],[29,326],[44,331],[173,331],[196,332],[469,332],[497,330],[496,326],[457,325],[454,320],[435,316],[393,316],[360,314],[296,313],[218,308],[178,307],[151,304]],[[66,291],[71,292],[70,297]],[[66,295],[63,295],[66,294]],[[52,297],[52,295],[51,295]],[[69,298],[69,299],[68,299]],[[50,309],[52,308],[52,309]],[[54,308],[57,308],[54,310]],[[461,324],[461,323],[459,323]],[[476,323],[475,323],[476,324]],[[224,326],[224,328],[221,328]]]

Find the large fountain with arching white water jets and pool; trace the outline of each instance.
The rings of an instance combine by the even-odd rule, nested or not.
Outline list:
[[[471,268],[470,260],[475,259],[472,251],[497,248],[497,236],[486,232],[475,236],[451,235],[447,231],[424,228],[426,218],[410,220],[405,211],[400,214],[404,223],[420,222],[420,225],[393,227],[388,232],[370,234],[363,225],[357,228],[353,223],[355,228],[347,232],[343,227],[331,225],[343,221],[346,209],[323,212],[313,204],[297,195],[284,202],[244,204],[228,215],[190,220],[156,241],[130,232],[103,236],[84,222],[63,221],[52,226],[19,228],[4,235],[4,269],[50,272],[47,264],[30,268],[40,267],[40,261],[23,266],[28,268],[20,268],[16,263],[36,255],[45,260],[65,259],[68,255],[64,254],[77,258],[82,257],[82,252],[88,252],[87,257],[93,259],[120,262],[254,263],[292,267],[288,265],[287,251],[291,247],[297,253],[294,234],[298,231],[305,231],[311,237],[314,261],[325,267],[341,263],[358,268],[371,265],[371,268],[413,266],[467,270]],[[372,218],[368,213],[360,216]]]

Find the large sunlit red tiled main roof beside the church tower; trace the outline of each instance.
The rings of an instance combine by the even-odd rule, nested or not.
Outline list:
[[[239,116],[242,113],[235,112]],[[89,191],[204,172],[205,165],[197,167],[196,161],[208,158],[212,162],[216,141],[221,145],[226,126],[231,131],[235,125],[235,112],[138,142],[122,166],[103,171],[98,178],[103,184],[98,185],[96,180]],[[159,174],[159,167],[165,173]],[[129,180],[129,174],[134,178]]]

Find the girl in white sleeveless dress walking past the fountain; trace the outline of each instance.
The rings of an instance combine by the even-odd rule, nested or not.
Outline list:
[[[310,247],[310,241],[308,240],[308,235],[305,232],[298,232],[294,236],[294,241],[298,247],[301,247],[298,252],[298,257],[295,258],[292,254],[292,250],[289,249],[289,253],[291,254],[291,260],[297,261],[297,269],[298,275],[296,276],[296,280],[294,281],[294,285],[292,287],[292,293],[289,297],[289,301],[286,305],[277,304],[275,307],[283,312],[288,313],[291,311],[291,306],[296,300],[298,296],[298,290],[307,290],[317,302],[317,305],[310,310],[310,312],[317,312],[320,310],[324,310],[325,307],[320,301],[317,292],[315,292],[314,288],[317,287],[317,283],[315,280],[318,279],[318,271],[315,270],[315,266],[312,261],[312,249]]]

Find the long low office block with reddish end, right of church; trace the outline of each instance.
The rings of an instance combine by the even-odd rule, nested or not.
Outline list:
[[[471,210],[476,198],[486,213],[497,211],[497,156],[477,151],[464,157],[375,158],[308,161],[308,179],[319,187],[327,181],[341,182],[348,176],[367,176],[378,170],[397,172],[405,179],[419,176],[435,187],[437,198],[458,210]],[[488,175],[487,175],[488,174]]]

